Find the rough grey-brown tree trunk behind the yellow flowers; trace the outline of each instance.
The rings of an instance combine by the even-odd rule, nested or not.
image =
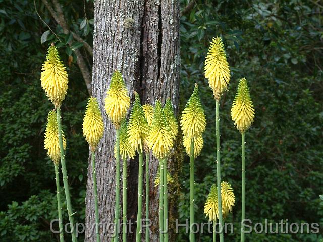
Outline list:
[[[179,15],[179,2],[176,0],[95,1],[92,95],[97,97],[104,115],[104,98],[115,69],[122,72],[132,101],[134,90],[140,94],[142,104],[154,104],[157,99],[165,103],[166,98],[170,97],[177,112],[180,68]],[[109,225],[113,223],[115,212],[114,144],[116,138],[112,123],[106,115],[103,119],[105,132],[98,145],[95,162],[100,222]],[[136,161],[137,158],[128,162],[128,220],[133,223],[137,216],[138,163]],[[174,165],[178,165],[175,162],[169,163],[171,169]],[[149,218],[152,220],[153,231],[150,236],[151,241],[158,241],[159,232],[159,195],[153,183],[157,167],[158,161],[151,157],[149,167]],[[87,223],[85,241],[95,241],[95,230],[90,231],[94,228],[95,221],[91,174],[89,164],[85,201]],[[176,211],[171,206],[172,199],[176,199],[177,190],[170,191],[172,193],[171,213]],[[143,208],[143,218],[144,211]],[[134,240],[135,228],[134,224],[133,234],[128,235],[128,241]],[[112,241],[110,238],[112,231],[109,233],[108,228],[101,227],[100,233],[101,241]],[[170,241],[174,241],[174,238],[170,238]]]

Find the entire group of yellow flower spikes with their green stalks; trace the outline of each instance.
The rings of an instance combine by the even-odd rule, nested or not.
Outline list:
[[[60,241],[64,241],[62,207],[59,184],[59,163],[61,161],[64,189],[67,201],[69,222],[71,224],[72,241],[77,241],[74,229],[72,204],[67,181],[65,164],[66,140],[62,131],[60,106],[65,99],[68,88],[68,78],[65,67],[60,60],[57,48],[52,44],[48,48],[46,61],[42,66],[41,86],[45,90],[48,99],[56,110],[49,111],[48,123],[45,132],[44,146],[47,154],[55,165],[58,216],[60,226]],[[216,100],[216,143],[217,143],[217,183],[213,184],[204,206],[204,213],[214,224],[213,241],[216,240],[216,224],[220,226],[220,241],[224,241],[222,226],[224,219],[232,211],[235,196],[231,185],[221,181],[220,162],[220,111],[219,101],[222,94],[228,89],[230,70],[221,37],[213,38],[207,57],[205,59],[205,77],[209,81],[210,89]],[[127,159],[134,159],[136,153],[139,156],[138,170],[138,211],[136,242],[141,241],[142,203],[143,203],[143,176],[145,156],[145,218],[149,218],[149,154],[159,160],[159,168],[155,177],[155,186],[159,187],[159,241],[168,241],[168,184],[173,182],[168,171],[168,156],[173,149],[174,141],[178,134],[178,122],[174,115],[171,99],[168,98],[163,106],[157,100],[151,104],[141,105],[139,94],[134,92],[135,101],[132,105],[129,120],[127,113],[130,107],[129,91],[126,88],[120,71],[115,71],[111,77],[109,89],[104,100],[106,116],[114,124],[116,130],[115,158],[116,158],[116,203],[115,203],[115,233],[114,242],[119,241],[120,218],[120,161],[123,162],[123,198],[122,198],[122,241],[126,241],[127,224]],[[241,133],[242,141],[242,221],[245,218],[245,132],[253,123],[254,109],[249,95],[247,80],[240,80],[236,97],[234,99],[231,117],[234,125]],[[180,119],[180,128],[183,133],[183,145],[190,157],[190,228],[194,224],[194,159],[201,153],[203,147],[202,134],[206,127],[204,109],[199,97],[198,85],[195,84]],[[94,97],[88,99],[83,119],[83,135],[89,144],[92,161],[93,194],[95,202],[96,240],[100,241],[99,213],[97,202],[95,151],[104,133],[104,124],[98,101]],[[195,242],[195,234],[190,229],[190,241]],[[145,230],[145,239],[149,241],[149,229]],[[241,231],[241,241],[244,241],[244,233]]]

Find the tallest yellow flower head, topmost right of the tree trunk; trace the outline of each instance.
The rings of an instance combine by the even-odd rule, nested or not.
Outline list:
[[[228,89],[230,70],[222,38],[213,38],[205,58],[205,77],[214,98],[220,100],[222,93]]]

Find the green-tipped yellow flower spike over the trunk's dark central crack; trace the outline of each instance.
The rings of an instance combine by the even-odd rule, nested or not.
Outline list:
[[[139,94],[135,93],[135,103],[131,110],[127,133],[129,143],[134,150],[143,151],[144,143],[148,144],[149,125],[140,104]]]

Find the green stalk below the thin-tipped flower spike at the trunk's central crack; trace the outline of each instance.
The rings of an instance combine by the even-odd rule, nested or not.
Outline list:
[[[138,209],[137,209],[137,231],[136,242],[141,241],[141,218],[142,218],[142,197],[143,197],[143,152],[139,153],[139,171],[138,171]]]

